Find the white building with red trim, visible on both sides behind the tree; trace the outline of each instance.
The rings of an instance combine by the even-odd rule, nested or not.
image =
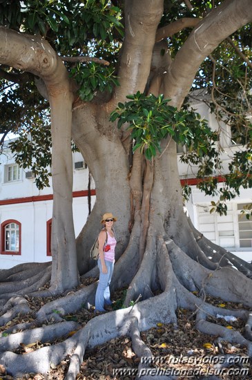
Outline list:
[[[204,104],[193,104],[202,117],[209,120],[212,129],[218,127],[215,117]],[[231,143],[227,126],[222,125],[224,167],[238,146]],[[191,169],[178,162],[181,180],[194,184],[197,168]],[[73,214],[75,236],[78,236],[89,213],[88,169],[80,153],[73,153]],[[219,173],[216,173],[218,176]],[[93,187],[92,187],[93,186]],[[94,184],[91,188],[94,189]],[[220,184],[221,186],[221,184]],[[240,215],[242,207],[252,202],[251,189],[240,191],[240,197],[228,202],[226,216],[210,213],[211,200],[195,185],[192,186],[187,209],[195,227],[217,245],[226,247],[246,261],[252,260],[252,221]],[[95,190],[91,191],[91,208],[95,202]],[[20,263],[51,260],[50,227],[52,219],[52,188],[37,189],[32,173],[19,169],[8,146],[0,158],[0,269]]]

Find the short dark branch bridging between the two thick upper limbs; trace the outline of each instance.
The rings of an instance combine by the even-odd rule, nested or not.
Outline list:
[[[163,28],[159,28],[157,30],[156,42],[161,41],[164,38],[171,37],[184,28],[194,28],[200,21],[201,19],[196,17],[185,17],[184,19],[180,19],[170,23],[169,25],[163,26]]]

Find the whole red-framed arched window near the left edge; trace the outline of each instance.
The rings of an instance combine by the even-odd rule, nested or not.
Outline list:
[[[21,223],[6,220],[1,225],[1,254],[21,255]]]

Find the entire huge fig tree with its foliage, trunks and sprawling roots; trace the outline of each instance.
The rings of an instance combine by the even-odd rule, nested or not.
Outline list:
[[[97,276],[89,249],[106,211],[118,218],[112,287],[128,288],[125,305],[138,301],[82,328],[64,315],[92,304],[96,283],[46,303],[35,323],[17,325],[22,332],[1,338],[1,365],[14,376],[45,373],[70,354],[67,378],[73,379],[86,347],[119,334],[131,336],[138,356],[149,356],[139,331],[157,322],[176,326],[178,307],[195,311],[200,331],[245,345],[251,356],[248,312],[219,310],[194,294],[202,290],[251,307],[252,272],[250,264],[206,240],[187,218],[176,151],[177,144],[188,146],[184,160],[196,163],[200,175],[213,178],[221,169],[219,133],[184,105],[192,86],[205,88],[218,117],[247,144],[233,168],[238,172],[243,165],[239,186],[251,186],[251,1],[3,0],[0,10],[1,133],[19,133],[13,149],[19,162],[25,152],[23,167],[35,160],[38,167],[48,166],[51,138],[54,193],[52,266],[30,263],[0,272],[0,323],[30,312],[26,296],[56,296],[77,287],[79,276]],[[37,135],[47,136],[40,139],[44,155],[35,160],[27,159],[28,152],[30,157],[38,152],[28,147],[27,133],[33,142]],[[77,240],[72,142],[96,189],[95,207]],[[46,169],[38,167],[33,169],[42,186]],[[226,176],[221,200],[230,199],[228,189],[238,191],[232,175]],[[216,190],[214,180],[207,183],[206,191]],[[225,212],[222,202],[216,208]],[[39,290],[48,280],[49,289]],[[207,320],[231,313],[247,321],[246,336]],[[48,321],[55,325],[46,326]],[[62,343],[14,353],[20,342],[53,341],[71,330],[77,332]]]

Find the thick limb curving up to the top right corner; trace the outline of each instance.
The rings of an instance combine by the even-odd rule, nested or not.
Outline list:
[[[226,22],[229,20],[229,22]],[[202,61],[227,37],[252,20],[250,0],[224,1],[200,21],[177,53],[164,82],[164,94],[180,107]],[[181,91],[183,88],[183,91]],[[171,105],[173,105],[171,104]]]

